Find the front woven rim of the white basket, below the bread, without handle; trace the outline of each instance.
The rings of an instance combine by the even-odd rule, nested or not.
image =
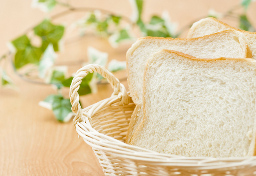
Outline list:
[[[82,126],[88,128],[88,130],[85,131]],[[111,153],[112,155],[122,156],[126,159],[136,160],[137,162],[141,161],[147,162],[148,164],[164,166],[180,166],[186,167],[188,169],[190,167],[193,167],[194,169],[197,167],[197,169],[207,170],[221,169],[226,167],[256,166],[256,156],[215,158],[201,156],[179,156],[166,153],[158,153],[152,150],[144,149],[142,147],[126,144],[115,138],[99,133],[97,130],[87,125],[84,121],[77,122],[76,131],[79,136],[81,136],[84,141],[94,150],[104,150],[105,152]],[[98,136],[104,137],[105,140],[98,141],[96,139],[99,138]],[[100,144],[97,145],[97,143]],[[118,149],[120,147],[129,149],[131,151],[122,151]]]

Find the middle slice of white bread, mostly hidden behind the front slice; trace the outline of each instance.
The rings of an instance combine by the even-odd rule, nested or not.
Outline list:
[[[148,57],[161,49],[172,49],[197,58],[250,58],[251,51],[246,38],[240,32],[227,30],[201,38],[140,38],[128,50],[126,55],[128,84],[131,97],[137,105],[131,117],[126,136],[129,144],[134,131],[143,118],[142,92],[143,72]]]

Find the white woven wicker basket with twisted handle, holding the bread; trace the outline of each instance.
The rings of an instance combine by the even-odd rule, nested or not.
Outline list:
[[[81,109],[77,93],[81,79],[98,72],[114,89],[110,98]],[[183,157],[157,153],[125,144],[135,108],[129,93],[114,75],[102,66],[90,64],[76,72],[70,101],[76,113],[73,124],[89,144],[106,176],[253,176],[256,156],[237,158]]]

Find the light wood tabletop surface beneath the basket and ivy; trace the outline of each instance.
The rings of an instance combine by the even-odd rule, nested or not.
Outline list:
[[[6,52],[6,42],[21,35],[28,27],[40,22],[45,14],[38,9],[31,9],[32,0],[1,0],[0,1],[0,54]],[[146,0],[143,18],[148,20],[151,14],[161,14],[168,10],[173,21],[180,27],[190,21],[204,17],[210,7],[217,12],[225,12],[239,0]],[[129,16],[131,6],[128,0],[70,0],[73,6],[94,7],[113,11],[116,14]],[[256,3],[248,11],[250,20],[256,23]],[[52,14],[61,12],[63,8],[55,9]],[[78,13],[73,17],[84,14]],[[61,21],[73,20],[73,17],[63,17]],[[231,25],[233,22],[230,22]],[[235,24],[235,23],[234,23]],[[186,36],[186,35],[185,35]],[[67,36],[68,38],[68,36]],[[125,52],[130,45],[111,48],[104,39],[86,36],[80,40],[65,45],[64,52],[60,53],[59,60],[86,61],[86,50],[93,46],[109,53],[109,59],[125,61]],[[73,66],[70,72],[79,69]],[[59,123],[51,111],[38,106],[49,94],[55,94],[50,86],[29,84],[15,75],[9,64],[9,74],[19,87],[18,91],[0,89],[0,176],[103,176],[102,167],[90,146],[82,139],[77,138],[71,121]],[[124,78],[125,72],[116,74]],[[122,84],[128,89],[126,81]],[[111,87],[98,86],[99,92],[95,95],[86,95],[81,98],[83,107],[108,98]],[[68,89],[63,93],[68,97]]]

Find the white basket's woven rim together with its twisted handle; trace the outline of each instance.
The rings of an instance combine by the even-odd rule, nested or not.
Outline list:
[[[108,82],[111,83],[114,92],[111,97],[92,104],[82,110],[79,104],[79,94],[77,91],[79,89],[79,84],[81,84],[81,79],[84,78],[88,72],[98,72],[104,78],[107,78]],[[256,168],[256,156],[214,158],[158,153],[142,147],[126,144],[116,138],[99,133],[99,131],[95,129],[92,120],[94,115],[112,105],[134,106],[135,104],[132,101],[130,102],[130,100],[130,93],[126,92],[124,85],[103,66],[97,64],[84,66],[77,71],[73,78],[70,86],[70,102],[72,104],[73,113],[76,113],[73,124],[75,125],[79,136],[93,148],[94,153],[98,158],[98,155],[100,155],[98,154],[99,151],[99,153],[104,153],[104,155],[115,156],[117,159],[122,158],[122,160],[126,159],[139,165],[156,165],[158,167],[176,166],[182,169],[193,170],[227,170],[227,168],[229,170],[237,170],[239,168],[244,169],[247,167]]]

